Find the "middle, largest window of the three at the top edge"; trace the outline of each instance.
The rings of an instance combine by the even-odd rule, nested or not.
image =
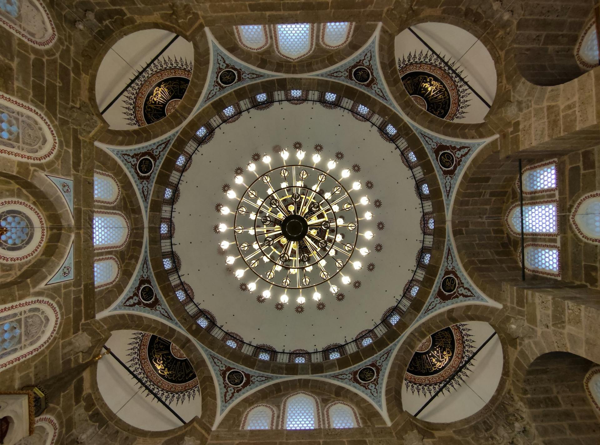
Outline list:
[[[286,23],[273,26],[275,52],[284,59],[296,61],[314,49],[314,23]]]

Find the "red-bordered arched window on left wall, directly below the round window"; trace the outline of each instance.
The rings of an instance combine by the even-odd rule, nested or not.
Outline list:
[[[0,306],[0,371],[46,347],[59,321],[58,308],[47,299]]]

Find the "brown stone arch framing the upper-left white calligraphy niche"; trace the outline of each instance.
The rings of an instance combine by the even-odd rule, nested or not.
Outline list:
[[[190,20],[190,23],[196,22]],[[182,38],[185,38],[185,40],[190,41],[194,47],[194,68],[190,79],[190,85],[177,108],[160,121],[146,125],[143,128],[112,130],[108,128],[108,124],[104,121],[104,118],[98,109],[98,105],[94,100],[91,111],[98,121],[102,123],[101,131],[97,135],[98,142],[106,143],[107,145],[128,145],[132,140],[135,140],[136,143],[149,142],[174,130],[194,112],[196,104],[200,100],[204,82],[208,78],[208,70],[210,68],[210,64],[208,63],[208,40],[203,27],[197,26],[196,28],[193,28],[193,26],[185,25],[183,22],[180,22],[179,24],[185,26],[185,29],[169,22],[155,21],[155,17],[152,17],[152,19],[148,21],[140,20],[133,25],[125,26],[122,21],[105,23],[104,28],[98,31],[104,35],[104,44],[98,43],[96,38],[90,38],[85,44],[83,53],[91,60],[89,65],[82,65],[82,71],[83,74],[88,76],[88,94],[89,97],[92,98],[95,98],[96,77],[98,68],[100,68],[104,56],[110,51],[113,44],[121,40],[125,35],[132,34],[136,31],[142,31],[143,29],[164,29],[180,35]]]

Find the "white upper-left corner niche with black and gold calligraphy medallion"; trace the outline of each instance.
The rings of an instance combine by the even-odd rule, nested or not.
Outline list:
[[[117,41],[95,83],[96,103],[110,128],[144,127],[172,113],[190,84],[193,60],[193,45],[164,29],[136,31]]]

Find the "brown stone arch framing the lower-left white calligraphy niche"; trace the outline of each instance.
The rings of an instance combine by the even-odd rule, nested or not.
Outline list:
[[[190,360],[194,372],[196,372],[200,389],[202,414],[199,418],[196,417],[185,425],[166,431],[146,431],[131,426],[124,422],[124,420],[121,420],[118,416],[115,416],[106,402],[104,402],[96,380],[97,365],[94,364],[89,368],[87,377],[89,379],[88,382],[91,387],[91,395],[94,398],[95,406],[103,414],[102,419],[98,419],[97,427],[104,429],[103,423],[106,422],[104,419],[110,419],[106,425],[108,431],[118,432],[119,435],[127,436],[132,442],[135,441],[136,438],[152,437],[154,439],[164,439],[165,443],[177,443],[176,438],[181,437],[182,439],[185,435],[202,434],[208,436],[217,415],[217,392],[215,390],[215,384],[209,365],[203,359],[202,354],[199,353],[194,342],[190,341],[190,339],[179,332],[179,330],[173,329],[170,325],[162,323],[155,318],[145,317],[144,315],[134,314],[133,312],[128,312],[127,314],[110,314],[100,318],[98,321],[100,321],[102,330],[105,332],[105,337],[101,339],[97,345],[94,345],[94,355],[100,354],[103,351],[102,345],[110,338],[110,332],[113,330],[121,330],[124,326],[126,326],[127,329],[139,330],[160,336],[178,347],[188,360]],[[90,418],[90,422],[94,424],[95,422],[92,419],[96,419],[96,417]]]

